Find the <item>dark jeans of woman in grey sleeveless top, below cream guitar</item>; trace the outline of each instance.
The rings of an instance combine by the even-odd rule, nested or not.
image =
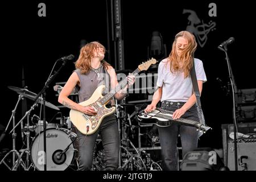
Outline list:
[[[113,171],[118,168],[119,163],[119,131],[115,115],[109,115],[103,119],[98,130],[85,138],[79,130],[77,138],[79,145],[79,170],[91,170],[93,164],[93,151],[98,133],[101,135],[102,145],[105,150],[106,168]]]

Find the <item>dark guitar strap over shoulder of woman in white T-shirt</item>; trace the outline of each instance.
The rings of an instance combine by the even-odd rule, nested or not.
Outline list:
[[[195,60],[193,60],[193,66],[192,66],[190,74],[191,74],[193,90],[194,90],[194,93],[196,96],[196,106],[197,106],[197,114],[199,116],[199,121],[201,124],[205,125],[204,113],[203,113],[203,110],[201,107],[201,101],[200,101],[200,91],[198,88],[197,78],[196,78]],[[199,137],[201,137],[201,135],[203,135],[203,132],[199,133]]]

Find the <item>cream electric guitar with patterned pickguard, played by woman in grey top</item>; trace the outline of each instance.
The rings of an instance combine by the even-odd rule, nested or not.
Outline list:
[[[134,76],[138,75],[141,71],[146,71],[152,64],[156,64],[155,59],[151,59],[142,63],[138,66],[137,69],[132,73]],[[108,94],[104,97],[102,96],[102,92],[105,89],[105,85],[98,86],[98,88],[94,91],[92,96],[84,101],[79,103],[82,106],[91,106],[97,112],[96,115],[88,115],[81,113],[80,111],[73,110],[69,112],[69,117],[73,125],[85,135],[93,134],[98,127],[100,126],[102,120],[115,112],[115,107],[107,108],[106,104],[108,104],[109,100],[114,96],[122,88],[125,88],[127,85],[127,80],[122,80],[118,83],[118,85],[110,90]]]

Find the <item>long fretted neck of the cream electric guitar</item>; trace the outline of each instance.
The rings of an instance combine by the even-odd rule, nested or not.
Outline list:
[[[139,68],[135,69],[135,71],[132,73],[134,76],[138,75],[138,73],[141,72],[141,70]],[[127,85],[127,81],[126,79],[125,80],[122,80],[118,83],[117,86],[115,86],[114,89],[110,90],[110,92],[108,94],[106,94],[106,96],[104,96],[103,98],[101,98],[100,100],[100,104],[101,105],[104,105],[106,104],[106,102],[108,102],[113,96],[115,93],[119,92],[119,90],[125,88],[125,86]]]

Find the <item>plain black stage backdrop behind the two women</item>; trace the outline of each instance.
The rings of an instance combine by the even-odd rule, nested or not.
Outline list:
[[[38,16],[40,2],[19,1],[2,5],[0,123],[3,126],[7,125],[11,111],[18,100],[18,94],[7,86],[22,86],[22,68],[28,89],[39,93],[57,59],[69,54],[77,58],[81,39],[88,42],[98,40],[106,47],[108,45],[106,1],[43,1],[46,3],[46,17]],[[208,15],[208,5],[211,2],[217,5],[216,17]],[[188,15],[183,14],[183,9],[195,11],[204,23],[211,20],[216,22],[216,29],[209,32],[207,43],[203,48],[198,47],[195,56],[203,61],[207,74],[208,81],[204,84],[201,102],[207,125],[213,128],[201,137],[200,146],[221,148],[221,124],[232,123],[233,120],[232,99],[225,96],[226,93],[216,81],[217,77],[221,78],[224,84],[229,80],[225,54],[218,50],[217,46],[230,36],[235,38],[235,42],[228,46],[228,52],[237,87],[238,89],[256,88],[252,59],[255,43],[254,9],[251,2],[123,1],[125,68],[135,69],[135,65],[147,59],[147,46],[150,43],[151,32],[154,30],[161,32],[167,52],[170,52],[175,34],[187,27]],[[109,62],[114,65],[113,46],[110,47],[110,55]],[[72,61],[65,65],[47,89],[47,101],[59,105],[52,86],[55,82],[66,81],[73,69]],[[31,101],[27,102],[28,109],[31,104]],[[32,114],[38,112],[39,109],[36,109]],[[46,113],[49,120],[56,111],[47,108]],[[19,105],[16,122],[21,117],[21,105]],[[8,131],[10,129],[11,126]],[[10,135],[1,143],[2,147],[11,148]]]

